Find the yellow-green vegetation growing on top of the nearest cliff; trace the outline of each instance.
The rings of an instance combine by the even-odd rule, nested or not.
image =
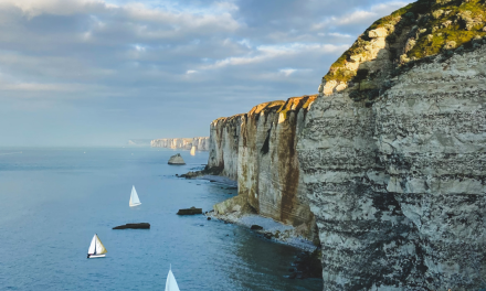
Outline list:
[[[475,37],[486,36],[486,0],[419,0],[392,14],[377,20],[330,67],[324,77],[327,82],[349,82],[356,71],[346,68],[351,56],[366,53],[370,44],[371,30],[384,28],[389,32],[387,42],[392,44],[403,33],[415,45],[406,52],[405,60],[420,60],[436,55],[443,50],[458,47]],[[400,55],[394,55],[400,63]]]

